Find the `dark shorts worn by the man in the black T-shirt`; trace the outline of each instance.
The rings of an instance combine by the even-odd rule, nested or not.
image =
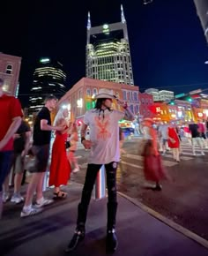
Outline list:
[[[45,172],[48,166],[48,158],[49,158],[49,144],[42,146],[33,146],[32,147],[33,165],[28,170],[31,173],[36,172]]]

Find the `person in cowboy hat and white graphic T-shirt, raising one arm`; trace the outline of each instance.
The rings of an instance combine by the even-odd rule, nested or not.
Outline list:
[[[95,95],[95,99],[95,108],[85,113],[84,123],[81,127],[81,143],[85,149],[91,150],[82,197],[78,204],[77,227],[65,252],[74,250],[85,237],[85,222],[93,184],[102,165],[105,165],[108,187],[107,251],[115,252],[118,244],[115,235],[117,210],[116,169],[120,160],[118,121],[123,118],[133,121],[134,115],[127,104],[118,99],[117,103],[123,107],[124,112],[111,109],[112,101],[115,99],[112,90],[100,89],[99,94]],[[85,139],[87,126],[90,128],[90,139]]]

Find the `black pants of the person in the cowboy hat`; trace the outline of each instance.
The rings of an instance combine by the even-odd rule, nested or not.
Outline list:
[[[105,164],[108,187],[108,230],[115,229],[115,216],[117,209],[117,194],[116,194],[116,169],[117,162]],[[88,164],[86,169],[85,184],[82,191],[81,202],[78,204],[78,220],[77,229],[85,229],[85,221],[88,206],[91,200],[93,184],[95,183],[97,173],[101,164]]]

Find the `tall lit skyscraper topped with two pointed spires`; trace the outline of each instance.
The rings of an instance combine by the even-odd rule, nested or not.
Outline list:
[[[121,5],[121,22],[91,26],[87,22],[86,77],[134,85],[130,43]]]

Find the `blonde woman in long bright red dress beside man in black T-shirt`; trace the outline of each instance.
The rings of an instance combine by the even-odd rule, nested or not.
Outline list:
[[[52,148],[49,186],[55,186],[55,199],[64,199],[67,196],[66,192],[61,191],[60,185],[67,184],[71,175],[71,165],[68,161],[65,147],[69,131],[66,122],[66,117],[68,116],[68,109],[59,109],[54,121],[55,125],[63,125],[66,128],[63,132],[56,132],[56,139]]]

